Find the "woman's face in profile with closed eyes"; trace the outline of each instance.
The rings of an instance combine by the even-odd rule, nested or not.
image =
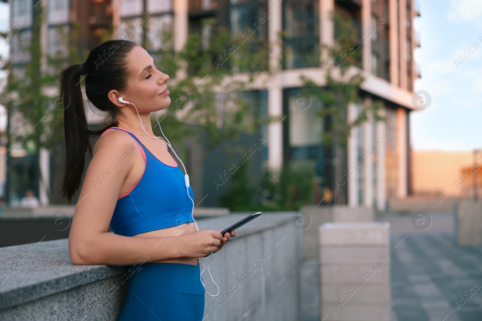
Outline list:
[[[154,60],[142,47],[136,46],[130,52],[127,89],[120,96],[137,107],[139,112],[154,112],[166,108],[171,103],[167,81],[169,76],[154,65]]]

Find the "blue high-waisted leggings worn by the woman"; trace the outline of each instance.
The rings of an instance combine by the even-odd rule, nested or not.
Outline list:
[[[133,265],[130,268],[134,270]],[[137,265],[117,320],[201,321],[204,287],[200,272],[199,262]]]

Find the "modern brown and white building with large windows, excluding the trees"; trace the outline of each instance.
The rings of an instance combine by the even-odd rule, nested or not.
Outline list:
[[[80,51],[105,39],[111,26],[114,37],[127,36],[147,50],[159,48],[159,33],[172,27],[174,50],[179,51],[189,34],[205,32],[204,19],[214,18],[231,31],[241,31],[266,17],[265,28],[259,33],[272,46],[268,60],[263,61],[272,75],[266,84],[247,95],[261,112],[280,116],[282,121],[267,126],[270,138],[267,148],[256,156],[253,173],[263,166],[280,168],[288,163],[311,168],[316,173],[320,195],[327,186],[334,193],[335,203],[352,207],[385,210],[388,198],[403,199],[411,194],[408,116],[416,109],[412,97],[414,81],[420,77],[413,58],[415,48],[419,47],[413,28],[413,20],[419,15],[414,0],[9,0],[9,3],[12,21],[23,13],[33,17],[36,5],[45,8],[48,18],[42,27],[43,48],[52,55],[61,52],[63,56],[68,54],[65,41],[61,41],[63,32],[76,26]],[[344,115],[351,122],[364,107],[380,102],[379,116],[385,118],[375,121],[373,115],[368,115],[366,122],[352,129],[346,146],[340,146],[336,139],[328,146],[322,143],[320,133],[331,128],[327,119],[316,116],[320,103],[315,102],[307,109],[299,108],[297,103],[303,95],[300,76],[311,78],[319,87],[326,86],[330,70],[320,66],[323,60],[320,48],[335,44],[334,14],[343,23],[348,19],[350,25],[358,28],[362,44],[358,67],[365,79],[361,86],[362,101],[350,103]],[[149,27],[145,28],[140,22],[147,16]],[[25,72],[24,63],[29,59],[26,44],[31,37],[32,19],[26,19],[11,39],[11,61],[18,73]],[[129,29],[135,23],[139,28]],[[284,35],[282,41],[280,33]],[[302,99],[308,102],[308,97]],[[309,99],[311,102],[312,98]],[[242,138],[246,145],[250,139],[250,136]],[[203,164],[203,173],[193,182],[198,200],[206,194],[211,196],[203,201],[204,206],[217,205],[213,181],[220,174],[218,168],[228,168],[224,167],[227,163],[222,157],[221,150],[210,154]],[[54,178],[51,173],[50,177],[52,184],[58,185],[58,176]],[[257,180],[254,175],[253,178]],[[317,203],[318,198],[314,199]]]

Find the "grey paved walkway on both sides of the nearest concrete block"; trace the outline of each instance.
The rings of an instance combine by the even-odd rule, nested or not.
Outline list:
[[[482,321],[482,246],[457,246],[452,214],[430,215],[426,231],[411,215],[376,218],[390,222],[391,321]],[[321,320],[317,269],[302,265],[302,321]]]

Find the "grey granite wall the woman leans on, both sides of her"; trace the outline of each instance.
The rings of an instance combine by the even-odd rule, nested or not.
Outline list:
[[[225,229],[248,214],[204,219],[198,226]],[[299,318],[301,233],[291,224],[293,214],[263,213],[237,229],[222,251],[203,259],[206,268],[213,261],[210,272],[220,289],[217,297],[205,295],[209,320],[268,320],[273,313]],[[82,320],[87,315],[116,320],[127,295],[128,267],[74,265],[67,246],[68,239],[61,239],[0,248],[0,320]],[[216,294],[208,273],[203,279],[206,290]]]

